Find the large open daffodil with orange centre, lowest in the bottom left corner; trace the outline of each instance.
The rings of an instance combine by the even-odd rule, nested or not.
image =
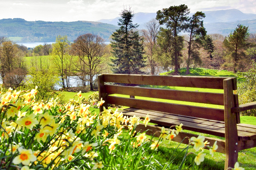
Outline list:
[[[17,165],[22,163],[23,165],[29,165],[30,162],[36,161],[36,156],[31,149],[18,148],[20,155],[13,159],[13,164]]]

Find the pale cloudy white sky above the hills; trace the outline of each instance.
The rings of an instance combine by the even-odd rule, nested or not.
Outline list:
[[[156,13],[185,4],[190,12],[228,10],[256,14],[256,0],[0,0],[0,19],[27,21],[98,21],[114,19],[124,8],[134,13]]]

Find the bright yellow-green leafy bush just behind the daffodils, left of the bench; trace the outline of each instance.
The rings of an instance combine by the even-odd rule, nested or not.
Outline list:
[[[20,88],[29,90],[37,86],[39,94],[36,96],[36,99],[49,99],[54,91],[55,84],[59,81],[58,75],[55,75],[51,70],[38,71],[35,67],[31,67],[28,74],[25,86]]]

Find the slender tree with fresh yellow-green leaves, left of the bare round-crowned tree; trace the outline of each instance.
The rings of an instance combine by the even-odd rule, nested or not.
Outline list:
[[[59,75],[61,77],[61,86],[62,88],[69,87],[69,75],[67,74],[67,70],[70,69],[68,67],[71,59],[69,58],[69,41],[67,36],[57,36],[56,43],[52,44],[52,54],[53,54],[53,62],[57,66]],[[66,84],[65,84],[66,79]]]

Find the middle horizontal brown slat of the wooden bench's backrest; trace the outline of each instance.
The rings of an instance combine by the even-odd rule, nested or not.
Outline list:
[[[190,101],[195,103],[223,105],[223,94],[181,91],[171,89],[142,88],[130,86],[105,85],[106,93],[161,98],[169,100]]]

